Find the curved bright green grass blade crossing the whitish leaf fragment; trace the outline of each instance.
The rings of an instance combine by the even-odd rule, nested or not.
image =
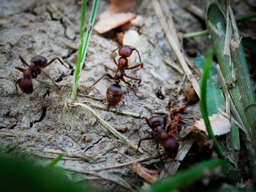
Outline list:
[[[205,66],[205,69],[203,72],[203,77],[202,77],[201,85],[200,85],[200,91],[201,91],[200,92],[200,95],[201,95],[200,96],[200,107],[201,107],[203,120],[206,124],[206,130],[208,132],[208,136],[214,140],[214,147],[215,147],[215,150],[217,151],[219,157],[224,158],[222,150],[219,147],[216,137],[214,136],[214,132],[211,129],[211,123],[208,118],[208,111],[207,111],[206,87],[207,87],[208,73],[210,71],[211,61],[212,61],[213,57],[214,57],[213,50],[208,50],[207,58],[206,58],[206,66]]]

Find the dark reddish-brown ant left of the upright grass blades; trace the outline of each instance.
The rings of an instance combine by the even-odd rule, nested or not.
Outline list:
[[[23,93],[33,93],[32,79],[36,79],[37,75],[41,74],[41,72],[45,74],[45,76],[48,77],[53,82],[54,85],[56,85],[56,83],[50,78],[50,76],[47,73],[43,72],[42,69],[44,69],[46,66],[50,65],[51,63],[53,63],[53,61],[56,61],[56,60],[58,60],[62,65],[64,65],[64,63],[59,58],[53,58],[52,60],[47,62],[47,59],[45,57],[37,55],[34,58],[31,58],[30,65],[27,64],[26,61],[21,56],[19,56],[19,58],[23,66],[29,66],[29,68],[23,69],[18,66],[15,67],[15,69],[18,69],[20,72],[23,72],[23,78],[20,78],[15,82],[16,93],[18,96],[20,96],[21,93],[20,94],[18,93],[17,85],[19,85]],[[65,67],[68,68],[67,66]],[[57,85],[56,87],[59,88]]]

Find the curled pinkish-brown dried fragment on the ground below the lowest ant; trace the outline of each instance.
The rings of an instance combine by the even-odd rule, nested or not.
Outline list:
[[[141,166],[138,162],[133,163],[133,169],[135,173],[143,177],[144,180],[154,183],[158,180],[158,172],[155,170],[146,169],[144,166]]]

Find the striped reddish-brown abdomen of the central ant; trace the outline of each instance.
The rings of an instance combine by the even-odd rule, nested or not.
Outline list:
[[[112,84],[107,89],[107,101],[110,106],[116,106],[121,100],[122,90],[118,84]]]

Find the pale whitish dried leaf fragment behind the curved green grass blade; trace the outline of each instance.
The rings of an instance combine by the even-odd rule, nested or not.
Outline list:
[[[211,123],[211,128],[212,131],[214,131],[214,135],[222,135],[222,134],[227,134],[230,132],[230,120],[225,117],[225,115],[221,114],[214,114],[209,117],[210,123]],[[203,119],[198,120],[193,126],[190,131],[203,131],[207,135],[206,131],[206,126],[203,121]]]

